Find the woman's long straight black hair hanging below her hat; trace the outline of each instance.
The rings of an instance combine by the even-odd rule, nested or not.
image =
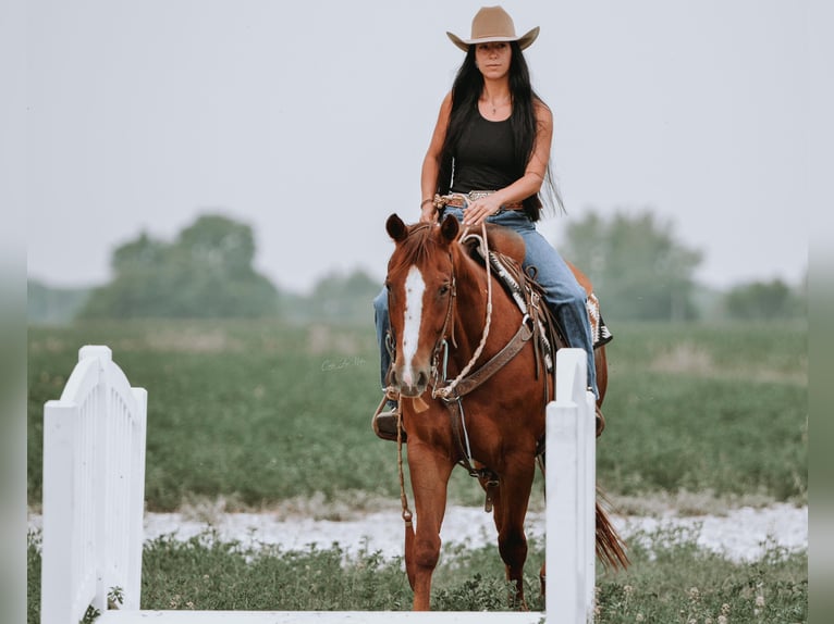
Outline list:
[[[514,138],[515,150],[515,177],[522,177],[527,163],[532,155],[536,143],[536,101],[544,104],[533,90],[530,83],[530,71],[524,58],[522,48],[517,41],[510,41],[512,58],[510,61],[510,92],[513,98],[513,112],[510,116],[510,127]],[[452,113],[449,120],[449,129],[443,141],[443,150],[440,159],[440,173],[438,175],[438,192],[446,195],[452,186],[454,174],[454,153],[461,136],[478,114],[478,99],[483,91],[483,76],[475,63],[475,46],[469,46],[466,58],[457,70],[457,75],[452,84]],[[543,191],[543,192],[542,192]],[[524,210],[532,221],[538,221],[542,209],[541,196],[552,200],[560,212],[565,212],[562,197],[553,182],[550,163],[542,189],[524,200]]]

